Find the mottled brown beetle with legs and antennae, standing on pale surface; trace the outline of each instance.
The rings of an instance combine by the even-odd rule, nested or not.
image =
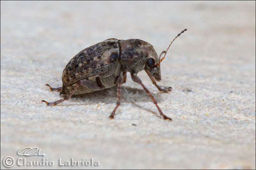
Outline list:
[[[187,29],[183,30],[181,33],[184,31],[187,31]],[[173,41],[180,36],[181,33],[179,33]],[[167,50],[163,52],[165,55],[171,44]],[[42,102],[47,103],[47,106],[57,105],[64,100],[68,100],[73,94],[93,92],[117,85],[116,107],[109,116],[109,118],[114,118],[116,109],[120,105],[121,85],[126,81],[126,73],[130,72],[132,80],[140,84],[148,93],[160,115],[162,115],[165,120],[172,121],[171,118],[163,114],[157,105],[156,99],[137,76],[138,72],[145,70],[157,89],[160,92],[166,93],[167,91],[165,89],[162,89],[156,84],[156,81],[161,80],[160,62],[162,62],[164,57],[160,60],[153,46],[142,40],[117,40],[111,38],[102,41],[85,48],[68,62],[62,73],[62,87],[52,88],[50,85],[46,84],[50,87],[50,90],[60,91],[60,95],[63,94],[64,99],[51,103],[45,100],[42,100]]]

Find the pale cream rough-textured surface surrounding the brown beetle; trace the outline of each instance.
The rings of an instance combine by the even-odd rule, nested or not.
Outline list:
[[[116,87],[41,104],[63,98],[44,85],[61,86],[82,49],[137,38],[160,54],[185,28],[161,63],[158,84],[172,92],[138,74],[172,122],[130,75],[114,120]],[[18,155],[24,147],[45,156]],[[255,1],[1,1],[1,169],[7,156],[22,169],[255,169]],[[100,166],[58,166],[72,158]]]

